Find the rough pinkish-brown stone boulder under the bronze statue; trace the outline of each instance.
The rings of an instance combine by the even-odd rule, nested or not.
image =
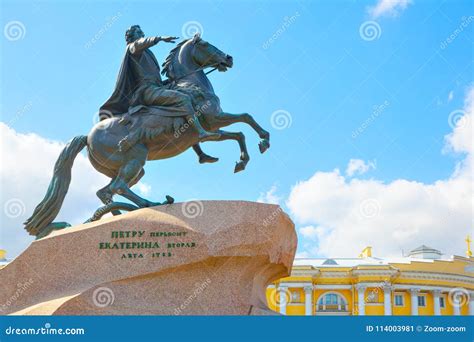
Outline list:
[[[0,269],[0,313],[271,314],[266,287],[288,276],[294,225],[279,206],[194,201],[56,231]]]

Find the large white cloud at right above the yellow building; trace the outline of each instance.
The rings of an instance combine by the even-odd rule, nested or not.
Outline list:
[[[312,247],[300,241],[304,249],[299,253],[354,257],[370,245],[375,255],[400,256],[401,249],[426,244],[463,255],[464,238],[472,233],[473,107],[474,87],[466,96],[463,117],[445,137],[450,150],[464,155],[446,179],[385,183],[346,178],[335,169],[297,183],[287,201],[293,217],[298,224],[327,229]],[[307,235],[316,234],[307,230]]]

